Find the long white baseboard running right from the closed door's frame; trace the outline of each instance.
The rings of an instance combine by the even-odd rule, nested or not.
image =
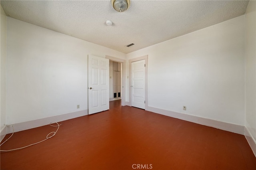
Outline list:
[[[174,118],[181,119],[184,121],[189,121],[189,122],[197,123],[200,125],[206,125],[208,127],[214,127],[214,128],[218,128],[221,130],[226,130],[229,132],[234,132],[234,133],[244,135],[244,126],[242,126],[242,125],[235,125],[232,123],[226,123],[226,122],[216,121],[216,120],[212,120],[212,119],[206,119],[203,117],[197,117],[194,115],[187,115],[184,113],[178,113],[178,112],[168,111],[168,110],[164,110],[164,109],[158,109],[158,108],[150,107],[150,106],[148,106],[148,111],[158,113],[161,115],[165,115],[165,116],[169,116],[169,117],[174,117]]]

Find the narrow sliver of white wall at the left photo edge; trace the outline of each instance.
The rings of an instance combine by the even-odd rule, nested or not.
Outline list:
[[[0,128],[2,131],[6,123],[6,15],[2,6],[0,10]]]

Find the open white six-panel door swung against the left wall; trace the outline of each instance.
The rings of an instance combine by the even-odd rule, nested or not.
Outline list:
[[[109,109],[109,59],[88,56],[88,114]]]

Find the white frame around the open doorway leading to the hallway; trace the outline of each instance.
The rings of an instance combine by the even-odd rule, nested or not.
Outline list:
[[[126,60],[125,59],[120,59],[120,58],[116,58],[116,57],[112,57],[112,56],[109,56],[109,55],[106,55],[105,57],[106,59],[109,59],[111,61],[116,61],[116,62],[119,62],[121,63],[122,65],[122,70],[121,70],[121,75],[122,75],[122,88],[121,88],[121,105],[122,106],[125,106],[125,63],[126,63]],[[109,78],[109,77],[108,77]]]

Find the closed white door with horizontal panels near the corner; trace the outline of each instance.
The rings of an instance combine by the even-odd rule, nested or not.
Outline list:
[[[132,62],[132,106],[145,109],[145,60]]]

